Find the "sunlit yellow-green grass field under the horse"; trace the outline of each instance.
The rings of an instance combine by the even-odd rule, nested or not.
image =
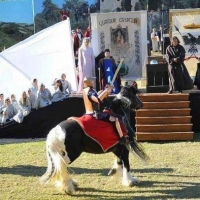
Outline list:
[[[83,153],[69,168],[79,182],[73,196],[39,184],[47,163],[45,141],[0,144],[0,200],[200,199],[200,134],[193,142],[142,143],[150,161],[144,165],[130,155],[131,173],[141,181],[131,188],[107,176],[112,153]]]

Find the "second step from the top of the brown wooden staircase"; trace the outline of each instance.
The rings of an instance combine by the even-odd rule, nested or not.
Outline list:
[[[188,108],[189,101],[176,101],[176,102],[143,102],[143,109],[177,109]]]

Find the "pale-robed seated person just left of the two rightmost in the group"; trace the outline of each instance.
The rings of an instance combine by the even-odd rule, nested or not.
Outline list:
[[[36,106],[35,108],[43,108],[51,104],[52,95],[49,89],[45,88],[45,85],[42,83],[40,89],[37,93]]]

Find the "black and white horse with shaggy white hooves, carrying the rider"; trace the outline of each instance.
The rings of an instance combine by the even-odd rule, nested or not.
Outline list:
[[[113,111],[124,115],[126,118],[125,123],[128,133],[132,130],[130,130],[127,113],[131,109],[142,107],[142,102],[137,93],[138,90],[133,86],[123,87],[111,103]],[[134,138],[131,138],[130,144],[129,150],[145,160],[146,155]],[[125,145],[118,143],[106,152],[113,152],[118,158],[112,171],[116,172],[115,174],[122,172],[122,184],[125,186],[139,183],[139,180],[132,177],[130,173],[129,150]],[[68,119],[58,124],[47,136],[46,153],[48,168],[40,181],[55,184],[67,194],[72,194],[77,187],[77,182],[69,176],[67,166],[77,159],[82,152],[93,154],[105,153],[97,142],[84,133],[75,120]]]

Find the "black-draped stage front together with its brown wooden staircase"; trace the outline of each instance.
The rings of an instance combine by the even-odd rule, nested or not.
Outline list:
[[[140,98],[144,107],[136,111],[132,121],[132,124],[136,121],[139,141],[192,140],[193,132],[200,133],[199,90],[184,91],[183,94],[144,92]],[[82,98],[70,97],[30,113],[21,124],[12,121],[0,126],[0,138],[46,137],[61,121],[83,113]]]

